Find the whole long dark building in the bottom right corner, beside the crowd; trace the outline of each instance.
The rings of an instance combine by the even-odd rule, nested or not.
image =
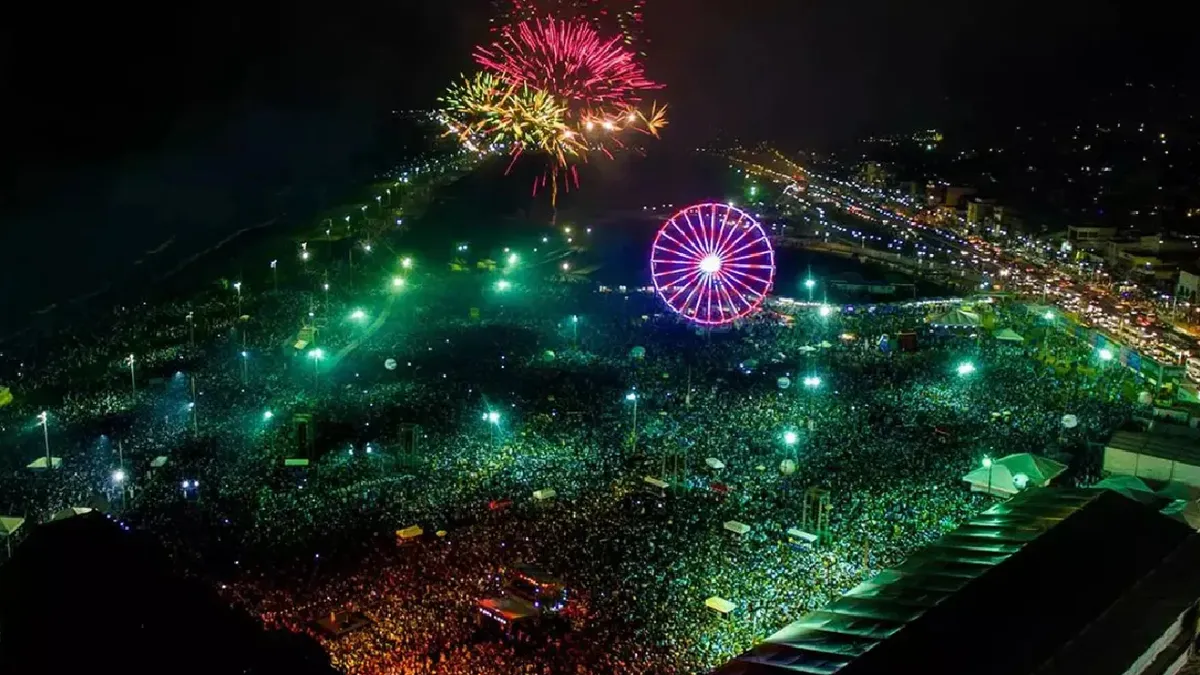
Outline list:
[[[1198,571],[1200,534],[1176,519],[1110,490],[1032,489],[715,673],[1176,673]]]

